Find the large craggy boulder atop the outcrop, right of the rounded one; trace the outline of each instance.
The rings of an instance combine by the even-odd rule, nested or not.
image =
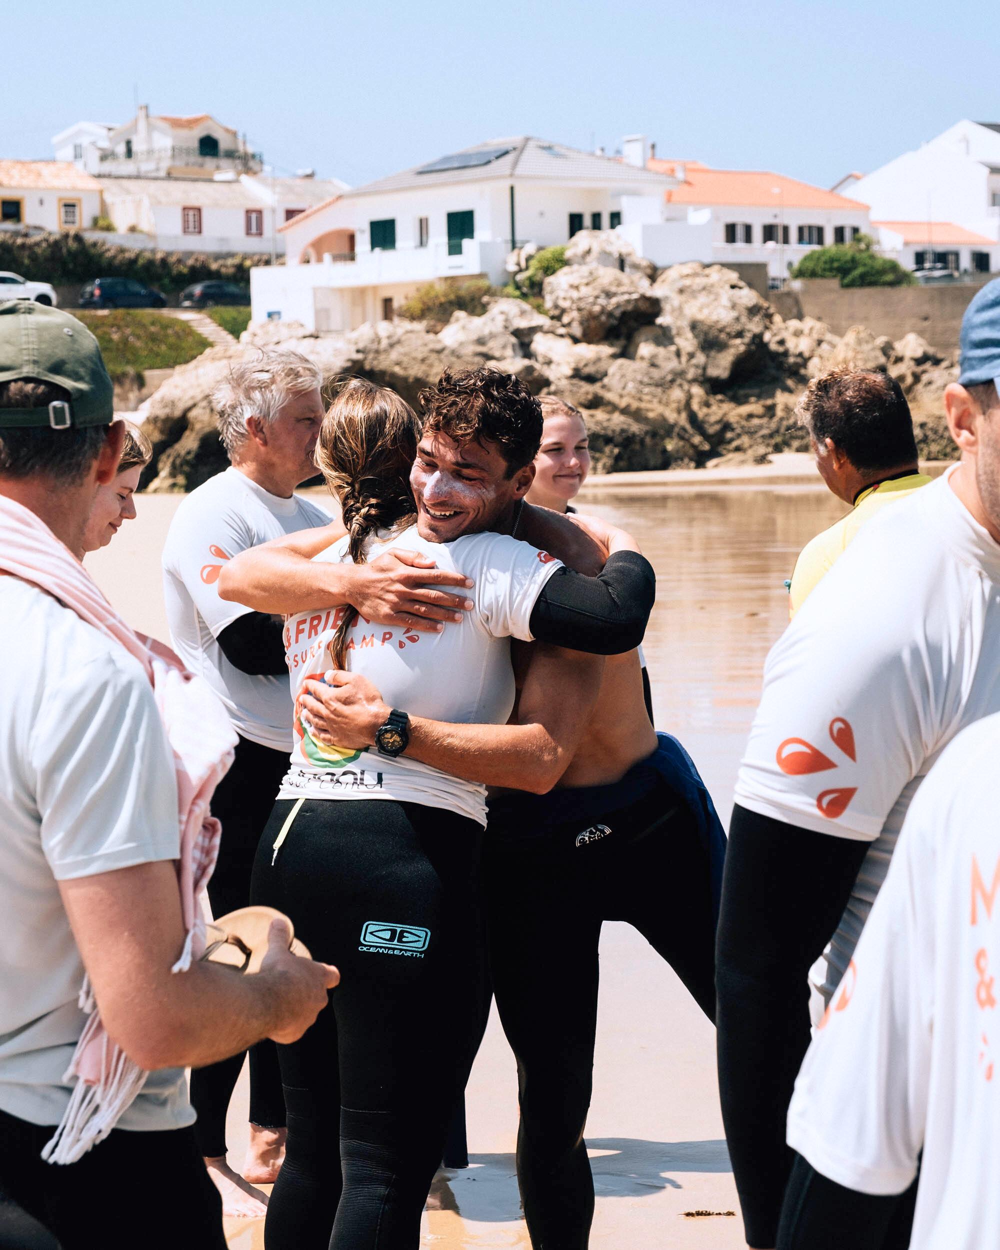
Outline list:
[[[721,389],[769,365],[774,310],[734,270],[672,265],[652,290],[662,306],[658,324],[670,328],[681,360],[698,362],[710,386]]]

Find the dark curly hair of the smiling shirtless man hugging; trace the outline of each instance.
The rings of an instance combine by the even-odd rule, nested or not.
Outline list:
[[[499,369],[445,370],[436,386],[420,392],[424,432],[440,431],[459,446],[495,442],[508,478],[538,455],[541,406],[520,378]]]

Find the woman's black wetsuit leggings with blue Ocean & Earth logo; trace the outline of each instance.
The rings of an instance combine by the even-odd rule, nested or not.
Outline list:
[[[289,1136],[268,1250],[418,1246],[484,1028],[481,846],[481,825],[440,808],[275,805],[252,900],[285,911],[341,980],[305,1036],[278,1048]]]

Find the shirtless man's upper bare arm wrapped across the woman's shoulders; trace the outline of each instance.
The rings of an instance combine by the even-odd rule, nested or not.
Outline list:
[[[441,586],[471,588],[460,572],[436,569],[415,551],[386,551],[370,564],[332,564],[312,558],[344,535],[339,522],[272,539],[228,560],[219,595],[259,612],[312,611],[351,604],[379,625],[409,625],[436,632],[442,621],[461,620],[472,606],[464,594]]]

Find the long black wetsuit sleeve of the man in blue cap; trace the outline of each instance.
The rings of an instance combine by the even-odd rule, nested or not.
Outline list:
[[[809,1048],[812,962],[836,930],[868,842],[736,806],[719,918],[719,1096],[746,1241],[770,1248],[791,1169],[785,1119]]]

